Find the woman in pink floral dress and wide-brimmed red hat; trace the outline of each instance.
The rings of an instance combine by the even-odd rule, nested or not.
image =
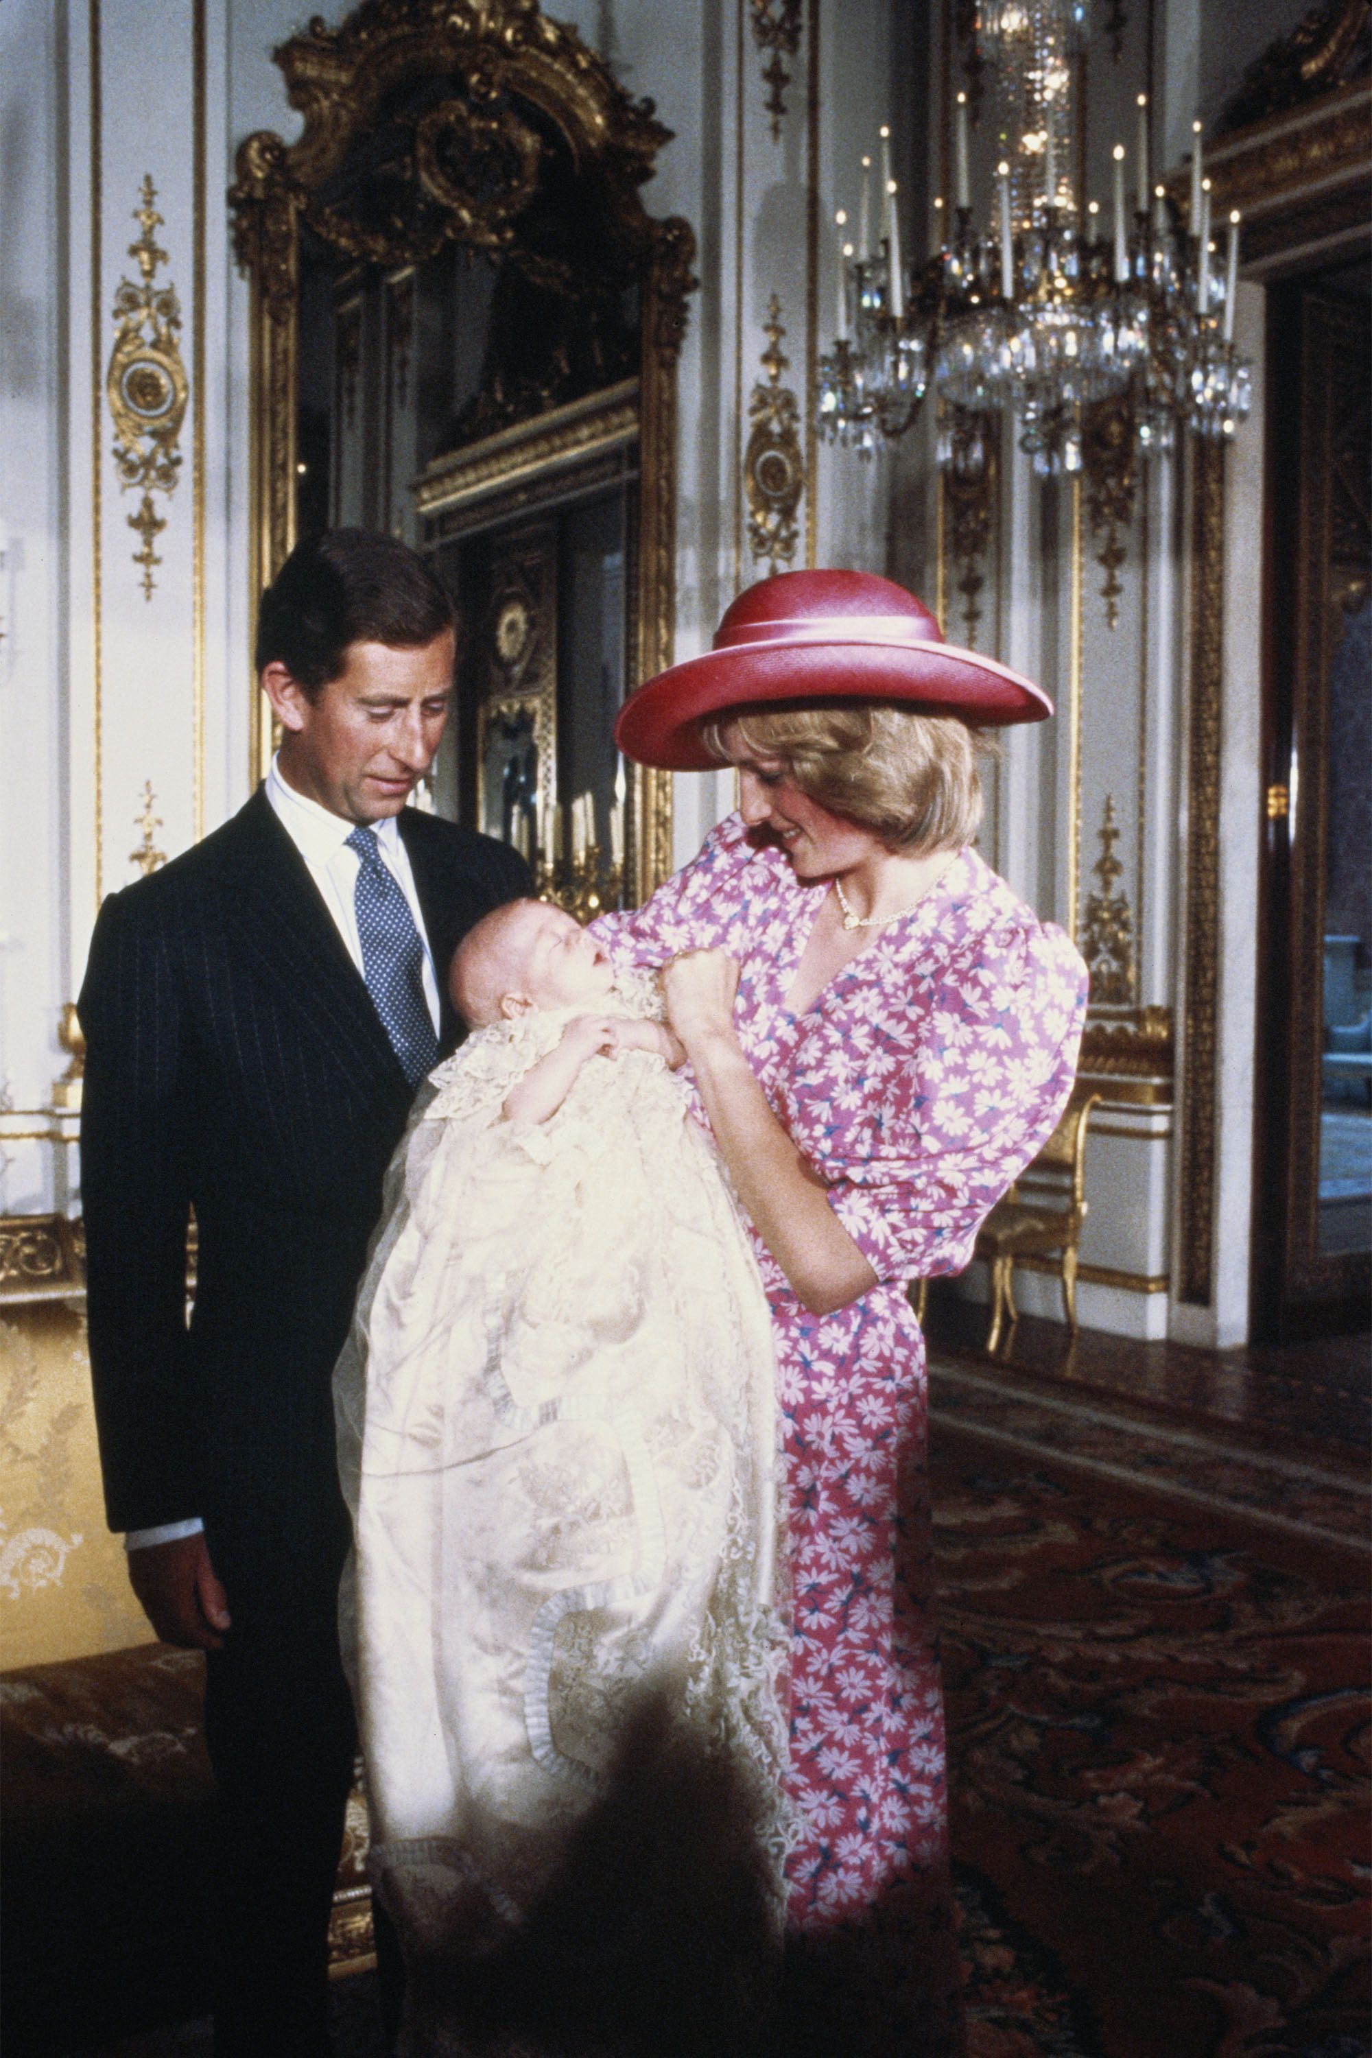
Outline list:
[[[796,1815],[784,2058],[961,2048],[907,1286],[963,1270],[1072,1089],[1084,965],[969,848],[967,724],[1049,712],[1028,681],[944,646],[901,587],[790,572],[741,595],[716,648],[619,722],[629,757],[726,759],[741,782],[699,856],[599,930],[621,963],[666,967],[775,1329]]]

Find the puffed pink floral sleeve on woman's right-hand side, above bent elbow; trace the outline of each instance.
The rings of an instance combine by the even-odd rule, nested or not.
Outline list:
[[[1035,926],[940,973],[913,1054],[872,1054],[870,1120],[821,1171],[880,1280],[969,1264],[981,1222],[1061,1117],[1084,1017],[1082,959],[1059,928]]]

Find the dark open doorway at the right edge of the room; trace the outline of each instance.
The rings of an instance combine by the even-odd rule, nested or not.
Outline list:
[[[1253,1336],[1372,1294],[1372,265],[1281,282],[1267,331],[1267,836]]]

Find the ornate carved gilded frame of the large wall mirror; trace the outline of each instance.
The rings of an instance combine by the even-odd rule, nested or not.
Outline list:
[[[461,72],[492,97],[514,93],[547,115],[576,167],[603,179],[613,226],[640,278],[640,510],[638,603],[629,622],[629,681],[673,661],[677,558],[677,362],[695,235],[679,216],[656,220],[640,187],[671,132],[650,101],[631,101],[574,29],[547,21],[535,0],[364,0],[337,29],[319,19],[274,51],[286,97],[304,115],[298,142],[272,130],[237,152],[228,193],[234,249],[251,284],[251,543],[253,607],[296,539],[296,372],[300,226],[311,196],[376,121],[385,97],[411,78]],[[459,241],[496,251],[510,222],[473,202]],[[251,778],[263,776],[272,731],[253,683]],[[673,868],[673,782],[634,768],[629,899],[644,899]]]

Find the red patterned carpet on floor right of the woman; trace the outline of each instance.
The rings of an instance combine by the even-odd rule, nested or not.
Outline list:
[[[932,1391],[971,2058],[1366,2058],[1362,1482]]]

